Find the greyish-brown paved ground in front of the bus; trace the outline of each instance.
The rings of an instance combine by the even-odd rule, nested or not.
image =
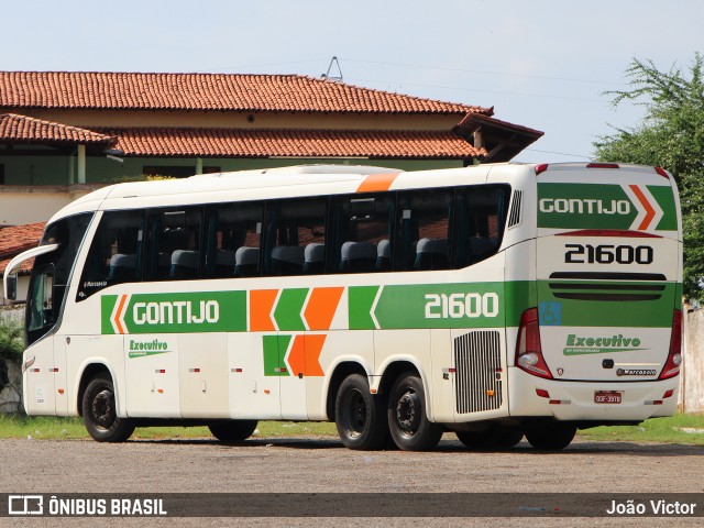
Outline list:
[[[432,452],[360,452],[332,439],[0,440],[0,493],[704,493],[704,448],[575,440],[559,453],[521,442],[475,452],[447,435]],[[367,495],[369,497],[369,495]],[[701,508],[704,509],[704,498]],[[360,515],[369,505],[360,504]],[[367,515],[372,515],[367,513]],[[446,514],[450,515],[450,513]],[[526,514],[530,515],[530,514]],[[19,519],[0,525],[18,526]],[[32,519],[28,526],[95,526]],[[701,526],[702,518],[168,518],[100,519],[101,526]]]

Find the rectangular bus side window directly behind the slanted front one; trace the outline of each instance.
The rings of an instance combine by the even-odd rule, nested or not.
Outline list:
[[[201,217],[200,207],[150,211],[146,229],[146,280],[198,278]]]

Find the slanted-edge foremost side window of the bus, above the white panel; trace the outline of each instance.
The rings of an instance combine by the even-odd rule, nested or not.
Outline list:
[[[120,283],[142,278],[143,211],[103,213],[80,278],[77,300]]]

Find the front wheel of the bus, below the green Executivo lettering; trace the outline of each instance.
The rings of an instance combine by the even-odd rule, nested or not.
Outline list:
[[[99,442],[124,442],[134,432],[134,424],[118,417],[112,380],[106,374],[94,377],[84,393],[84,424],[88,435]]]

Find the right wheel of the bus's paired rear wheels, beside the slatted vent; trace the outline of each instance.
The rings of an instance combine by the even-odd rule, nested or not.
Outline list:
[[[425,451],[440,441],[444,426],[428,420],[426,392],[417,374],[406,372],[392,386],[388,426],[396,446],[404,451]]]

